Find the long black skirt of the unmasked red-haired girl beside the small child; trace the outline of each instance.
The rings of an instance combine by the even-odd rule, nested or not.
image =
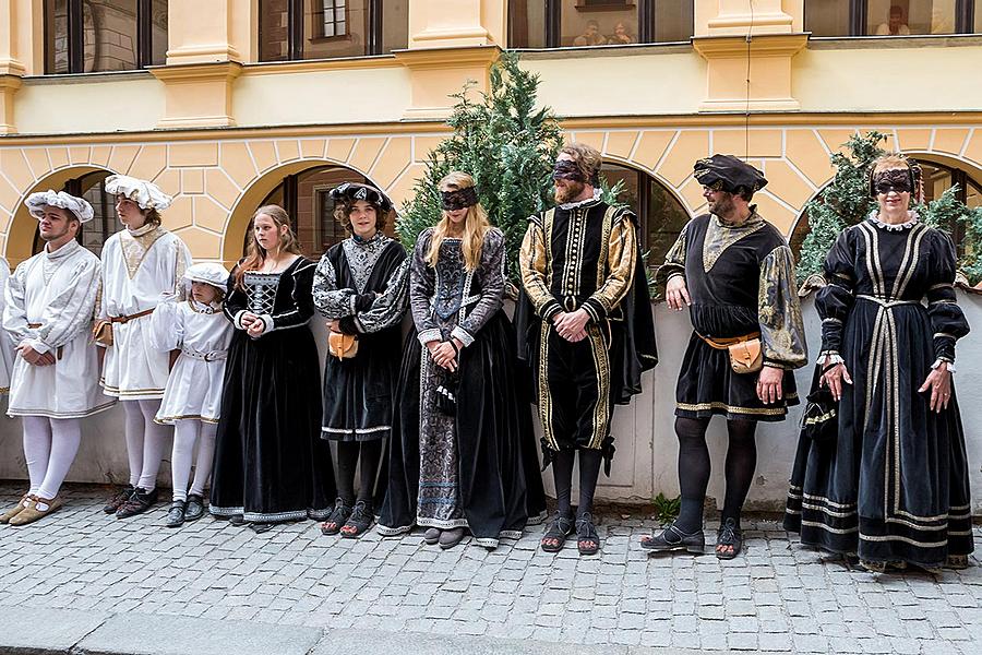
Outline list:
[[[334,507],[321,433],[318,349],[306,325],[229,348],[212,469],[211,512],[275,523],[324,519]]]

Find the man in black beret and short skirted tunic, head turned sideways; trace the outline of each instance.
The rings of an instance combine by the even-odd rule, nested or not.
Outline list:
[[[719,414],[729,446],[716,556],[732,559],[743,547],[740,512],[757,464],[757,421],[782,420],[798,404],[791,370],[805,365],[807,352],[791,249],[750,204],[767,184],[764,175],[732,155],[699,159],[694,175],[709,213],[686,224],[658,273],[669,307],[688,308],[694,327],[675,389],[682,508],[642,546],[705,549],[706,428]]]

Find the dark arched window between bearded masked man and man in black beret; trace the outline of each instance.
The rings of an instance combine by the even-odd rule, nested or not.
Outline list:
[[[604,163],[601,175],[610,186],[623,180],[624,192],[618,200],[630,205],[640,219],[642,248],[648,252],[648,264],[661,264],[688,222],[688,212],[671,192],[646,172],[620,164]]]

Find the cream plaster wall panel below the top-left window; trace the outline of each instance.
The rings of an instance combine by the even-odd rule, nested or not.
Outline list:
[[[14,102],[21,134],[153,130],[164,85],[149,73],[25,79]]]

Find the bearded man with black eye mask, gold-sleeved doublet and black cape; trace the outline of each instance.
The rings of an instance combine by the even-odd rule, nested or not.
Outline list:
[[[561,151],[553,174],[560,204],[529,219],[522,245],[528,303],[516,318],[524,337],[519,353],[532,365],[543,458],[552,463],[559,502],[542,548],[559,550],[573,529],[572,475],[579,452],[575,526],[584,555],[600,546],[592,499],[600,465],[606,460],[609,468],[613,456],[613,405],[639,393],[642,372],[657,362],[636,218],[600,200],[599,166],[600,154],[589,146]]]

